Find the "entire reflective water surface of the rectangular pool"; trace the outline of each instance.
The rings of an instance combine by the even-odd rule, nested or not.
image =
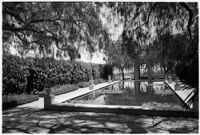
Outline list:
[[[163,82],[126,81],[77,98],[71,103],[182,109],[182,102]]]

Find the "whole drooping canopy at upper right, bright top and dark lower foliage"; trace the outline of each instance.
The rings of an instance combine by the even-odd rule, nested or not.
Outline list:
[[[123,48],[128,56],[137,61],[142,51],[156,52],[149,56],[152,64],[161,63],[166,72],[175,72],[177,63],[189,54],[186,49],[196,48],[198,32],[197,3],[162,2],[108,2],[104,3],[117,14],[124,24],[122,32]],[[196,27],[197,26],[197,27]],[[184,45],[183,45],[184,44]],[[191,45],[193,47],[189,47]],[[192,51],[193,52],[193,51]],[[184,54],[184,55],[183,55]],[[192,60],[192,61],[193,61]],[[191,59],[190,59],[191,61]],[[137,68],[137,63],[134,63]]]

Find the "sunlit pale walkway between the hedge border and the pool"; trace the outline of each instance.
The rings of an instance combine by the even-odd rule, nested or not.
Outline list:
[[[119,81],[114,81],[114,82],[111,82],[111,83],[105,82],[105,83],[97,84],[97,85],[94,86],[94,89],[92,89],[92,90],[90,90],[89,87],[79,88],[78,90],[55,96],[55,102],[61,103],[61,102],[64,102],[66,100],[73,99],[75,97],[90,93],[92,91],[107,87],[109,85],[112,85],[112,84],[115,84],[115,83],[118,83],[118,82]],[[37,100],[37,101],[27,103],[27,104],[23,104],[23,105],[20,105],[18,107],[29,107],[29,108],[43,109],[44,108],[44,98],[40,97],[39,100]]]

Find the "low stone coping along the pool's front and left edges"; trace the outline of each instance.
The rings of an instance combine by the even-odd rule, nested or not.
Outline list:
[[[113,85],[120,81],[115,81],[109,83]],[[63,101],[73,99],[84,94],[90,93],[95,90],[99,90],[104,87],[108,87],[108,84],[101,87],[96,87],[93,90],[87,89],[86,91],[79,93],[80,91],[73,92],[70,96],[63,99],[57,100],[51,104],[45,110],[48,111],[68,111],[68,112],[96,112],[96,113],[115,113],[115,114],[128,114],[128,115],[148,115],[148,116],[163,116],[163,117],[193,117],[198,118],[198,112],[191,110],[159,110],[152,109],[142,106],[117,106],[117,105],[94,105],[94,104],[71,104],[71,103],[62,103]],[[76,95],[78,94],[78,96]]]

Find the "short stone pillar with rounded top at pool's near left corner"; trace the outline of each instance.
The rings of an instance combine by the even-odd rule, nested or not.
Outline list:
[[[46,94],[44,95],[44,109],[50,107],[55,101],[55,96],[51,94],[51,88],[46,89]]]

